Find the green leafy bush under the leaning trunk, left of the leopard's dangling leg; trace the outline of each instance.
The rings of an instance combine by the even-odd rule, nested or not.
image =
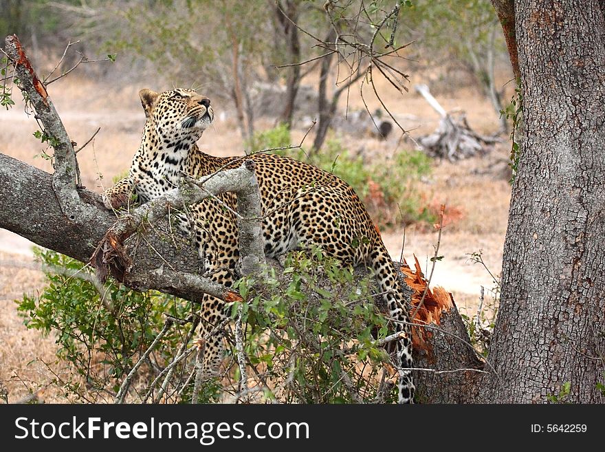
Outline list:
[[[58,252],[34,252],[46,269],[48,286],[37,296],[17,300],[17,310],[28,328],[56,338],[58,358],[75,371],[71,380],[61,382],[66,394],[96,401],[107,391],[117,392],[124,374],[162,330],[166,314],[184,319],[192,312],[191,303],[159,292],[135,292],[111,282],[100,286],[89,266]],[[153,378],[175,355],[186,334],[181,329],[157,345],[153,359],[142,367],[146,377]]]

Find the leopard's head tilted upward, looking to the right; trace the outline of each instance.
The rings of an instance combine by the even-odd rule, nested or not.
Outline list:
[[[214,119],[210,99],[192,89],[163,93],[141,89],[139,96],[147,122],[151,122],[159,139],[165,142],[198,140]]]

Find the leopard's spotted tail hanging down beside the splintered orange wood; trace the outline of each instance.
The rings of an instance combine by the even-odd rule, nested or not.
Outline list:
[[[395,332],[401,338],[397,341],[397,387],[399,389],[399,403],[413,403],[415,386],[412,379],[412,327],[401,282],[397,277],[397,270],[393,266],[391,256],[388,254],[382,240],[376,244],[372,254],[371,266],[375,272],[380,292],[384,295],[389,317],[395,324]]]

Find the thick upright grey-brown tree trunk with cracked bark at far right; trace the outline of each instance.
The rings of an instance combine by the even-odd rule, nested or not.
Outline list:
[[[479,400],[604,402],[603,12],[599,0],[514,11],[525,142],[489,353],[499,380],[486,376]]]

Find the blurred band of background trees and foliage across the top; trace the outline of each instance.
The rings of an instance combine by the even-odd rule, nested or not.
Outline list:
[[[505,109],[505,80],[496,74],[510,72],[509,63],[489,0],[399,3],[404,9],[375,33],[392,1],[0,0],[0,32],[23,36],[34,55],[58,53],[66,41],[81,40],[80,52],[126,56],[133,74],[153,70],[164,83],[212,86],[214,96],[234,107],[248,141],[264,92],[278,90],[281,102],[273,113],[289,128],[305,99],[303,80],[312,78],[307,83],[314,94],[305,100],[314,103],[318,120],[311,153],[324,144],[342,94],[368,78],[370,63],[376,65],[347,47],[347,36],[366,42],[374,34],[379,51],[389,41],[393,47],[414,41],[396,53],[398,69],[409,68],[410,61],[416,69],[438,67],[428,80],[437,92],[457,89],[466,78],[498,114]],[[500,129],[506,128],[503,116]]]

